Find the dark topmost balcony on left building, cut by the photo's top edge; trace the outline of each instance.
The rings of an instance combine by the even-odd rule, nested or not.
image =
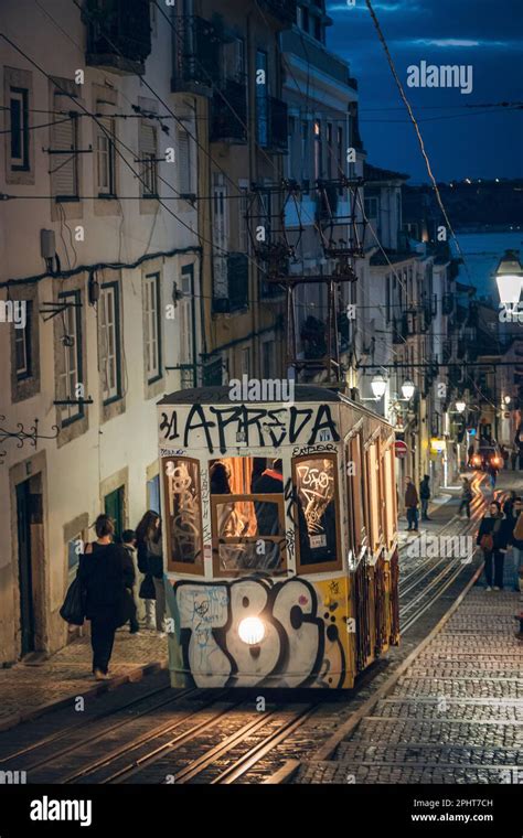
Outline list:
[[[121,75],[141,75],[151,52],[148,0],[87,0],[86,64]]]

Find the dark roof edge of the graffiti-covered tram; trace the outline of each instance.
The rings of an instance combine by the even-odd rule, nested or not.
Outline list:
[[[160,401],[158,401],[158,406],[161,405],[231,405],[231,388],[228,386],[216,386],[216,387],[192,387],[186,390],[177,390],[175,393],[171,393],[168,396],[163,396]],[[340,393],[339,390],[330,389],[329,387],[319,387],[314,385],[309,384],[297,384],[295,386],[295,398],[293,401],[298,402],[329,402],[329,404],[344,404],[350,405],[351,407],[357,408],[357,410],[361,410],[362,412],[369,413],[374,419],[380,419],[380,421],[384,422],[385,425],[388,425],[387,420],[380,416],[380,413],[375,413],[374,410],[370,410],[369,407],[360,404],[359,401],[353,401],[352,399],[348,398],[343,393]],[[278,399],[260,399],[260,404],[277,404],[281,405],[284,404],[281,400]]]

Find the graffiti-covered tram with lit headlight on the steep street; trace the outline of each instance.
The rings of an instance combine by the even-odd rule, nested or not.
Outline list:
[[[230,394],[158,404],[171,685],[350,688],[399,641],[393,428]]]

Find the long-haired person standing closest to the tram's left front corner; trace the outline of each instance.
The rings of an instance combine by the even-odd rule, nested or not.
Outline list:
[[[166,619],[166,587],[163,582],[163,551],[161,541],[161,520],[158,513],[148,509],[136,528],[138,548],[138,568],[141,573],[152,579],[154,590],[154,623],[152,623],[151,605],[147,602],[148,626],[156,627],[163,637]],[[146,580],[145,580],[146,581]],[[150,581],[150,580],[149,580]]]

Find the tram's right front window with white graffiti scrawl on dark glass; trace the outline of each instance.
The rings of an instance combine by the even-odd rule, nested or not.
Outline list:
[[[292,477],[298,522],[298,571],[341,569],[335,454],[296,456]]]

